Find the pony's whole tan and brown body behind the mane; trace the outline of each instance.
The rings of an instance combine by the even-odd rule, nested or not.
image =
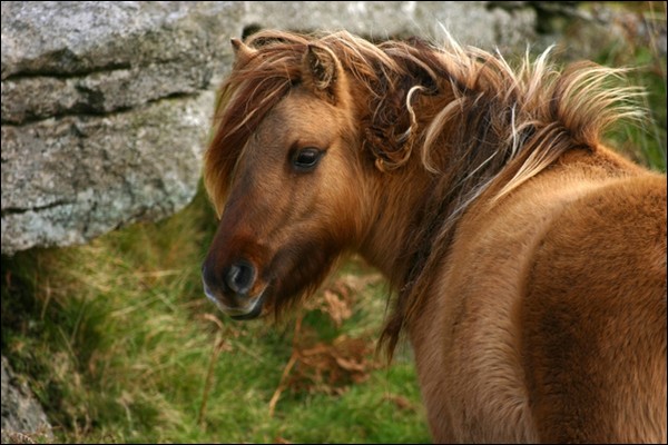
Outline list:
[[[411,336],[438,442],[665,442],[665,176],[598,147],[478,202]]]

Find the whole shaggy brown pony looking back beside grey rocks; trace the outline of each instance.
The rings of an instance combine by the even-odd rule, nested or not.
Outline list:
[[[207,296],[278,314],[360,253],[436,442],[666,442],[666,177],[603,147],[620,70],[346,32],[233,40]]]

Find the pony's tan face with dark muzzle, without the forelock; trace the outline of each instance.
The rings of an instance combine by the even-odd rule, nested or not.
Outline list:
[[[360,238],[364,184],[343,72],[316,83],[313,63],[340,69],[333,55],[320,57],[305,56],[303,81],[254,129],[229,178],[203,279],[236,319],[314,290]]]

